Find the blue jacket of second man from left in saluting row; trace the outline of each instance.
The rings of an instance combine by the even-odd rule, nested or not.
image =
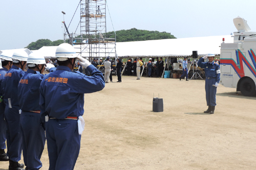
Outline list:
[[[11,98],[12,106],[19,106],[18,105],[18,83],[20,78],[23,77],[25,72],[20,69],[19,67],[13,65],[11,69],[9,69],[6,74],[5,78],[2,81],[2,92],[4,96],[4,102],[8,106],[8,98]]]

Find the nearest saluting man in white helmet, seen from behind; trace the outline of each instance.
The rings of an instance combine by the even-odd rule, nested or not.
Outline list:
[[[81,117],[84,112],[84,93],[100,91],[105,83],[101,71],[82,57],[77,58],[92,76],[88,77],[79,71],[72,72],[76,60],[72,45],[60,44],[56,49],[56,58],[56,71],[42,79],[40,85],[41,121],[44,123],[45,117],[49,169],[73,169],[84,127]]]

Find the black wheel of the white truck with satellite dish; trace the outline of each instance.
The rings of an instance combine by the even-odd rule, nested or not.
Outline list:
[[[240,90],[244,96],[253,96],[256,94],[255,83],[250,78],[245,78],[240,83]]]

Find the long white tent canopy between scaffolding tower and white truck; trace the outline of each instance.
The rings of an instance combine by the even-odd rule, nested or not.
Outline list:
[[[208,53],[220,55],[222,38],[226,43],[233,42],[231,35],[118,42],[116,51],[118,57],[183,57],[191,56],[193,51],[198,51],[199,56]]]

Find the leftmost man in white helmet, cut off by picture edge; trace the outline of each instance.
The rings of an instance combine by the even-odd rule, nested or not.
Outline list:
[[[0,56],[0,161],[9,161],[5,153],[6,145],[6,122],[5,122],[5,104],[3,101],[3,93],[1,88],[2,80],[5,78],[6,72],[12,66],[12,52],[3,52]]]

